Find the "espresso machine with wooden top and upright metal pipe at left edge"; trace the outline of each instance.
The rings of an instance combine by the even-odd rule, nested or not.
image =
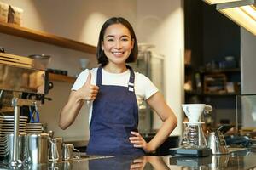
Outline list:
[[[27,57],[0,53],[0,112],[14,115],[11,167],[20,164],[17,159],[20,107],[42,104],[44,95],[49,91],[48,72],[37,62]]]

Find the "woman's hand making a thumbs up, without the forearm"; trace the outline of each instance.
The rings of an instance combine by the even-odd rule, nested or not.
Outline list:
[[[79,88],[79,90],[77,90],[77,93],[79,94],[80,99],[85,99],[87,101],[92,101],[96,99],[96,95],[98,94],[99,87],[97,87],[96,85],[90,84],[90,80],[91,80],[91,73],[89,71],[86,82],[84,83],[82,88]]]

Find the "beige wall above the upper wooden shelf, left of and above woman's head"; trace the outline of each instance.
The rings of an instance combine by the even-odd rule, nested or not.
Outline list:
[[[136,20],[136,0],[1,1],[25,9],[23,26],[91,45],[96,45],[100,26],[109,16],[125,16],[133,25]]]

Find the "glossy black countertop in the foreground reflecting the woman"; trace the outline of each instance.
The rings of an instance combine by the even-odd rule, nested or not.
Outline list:
[[[11,169],[3,162],[0,169]],[[30,165],[18,169],[79,169],[79,170],[166,170],[166,169],[256,169],[256,150],[230,152],[228,155],[201,158],[173,156],[89,156],[80,160]]]

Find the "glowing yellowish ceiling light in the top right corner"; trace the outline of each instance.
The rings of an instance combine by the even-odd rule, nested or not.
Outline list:
[[[233,20],[239,26],[256,36],[256,0],[205,0],[217,4],[217,10]],[[218,2],[218,3],[217,3]],[[221,3],[220,3],[221,2]]]

